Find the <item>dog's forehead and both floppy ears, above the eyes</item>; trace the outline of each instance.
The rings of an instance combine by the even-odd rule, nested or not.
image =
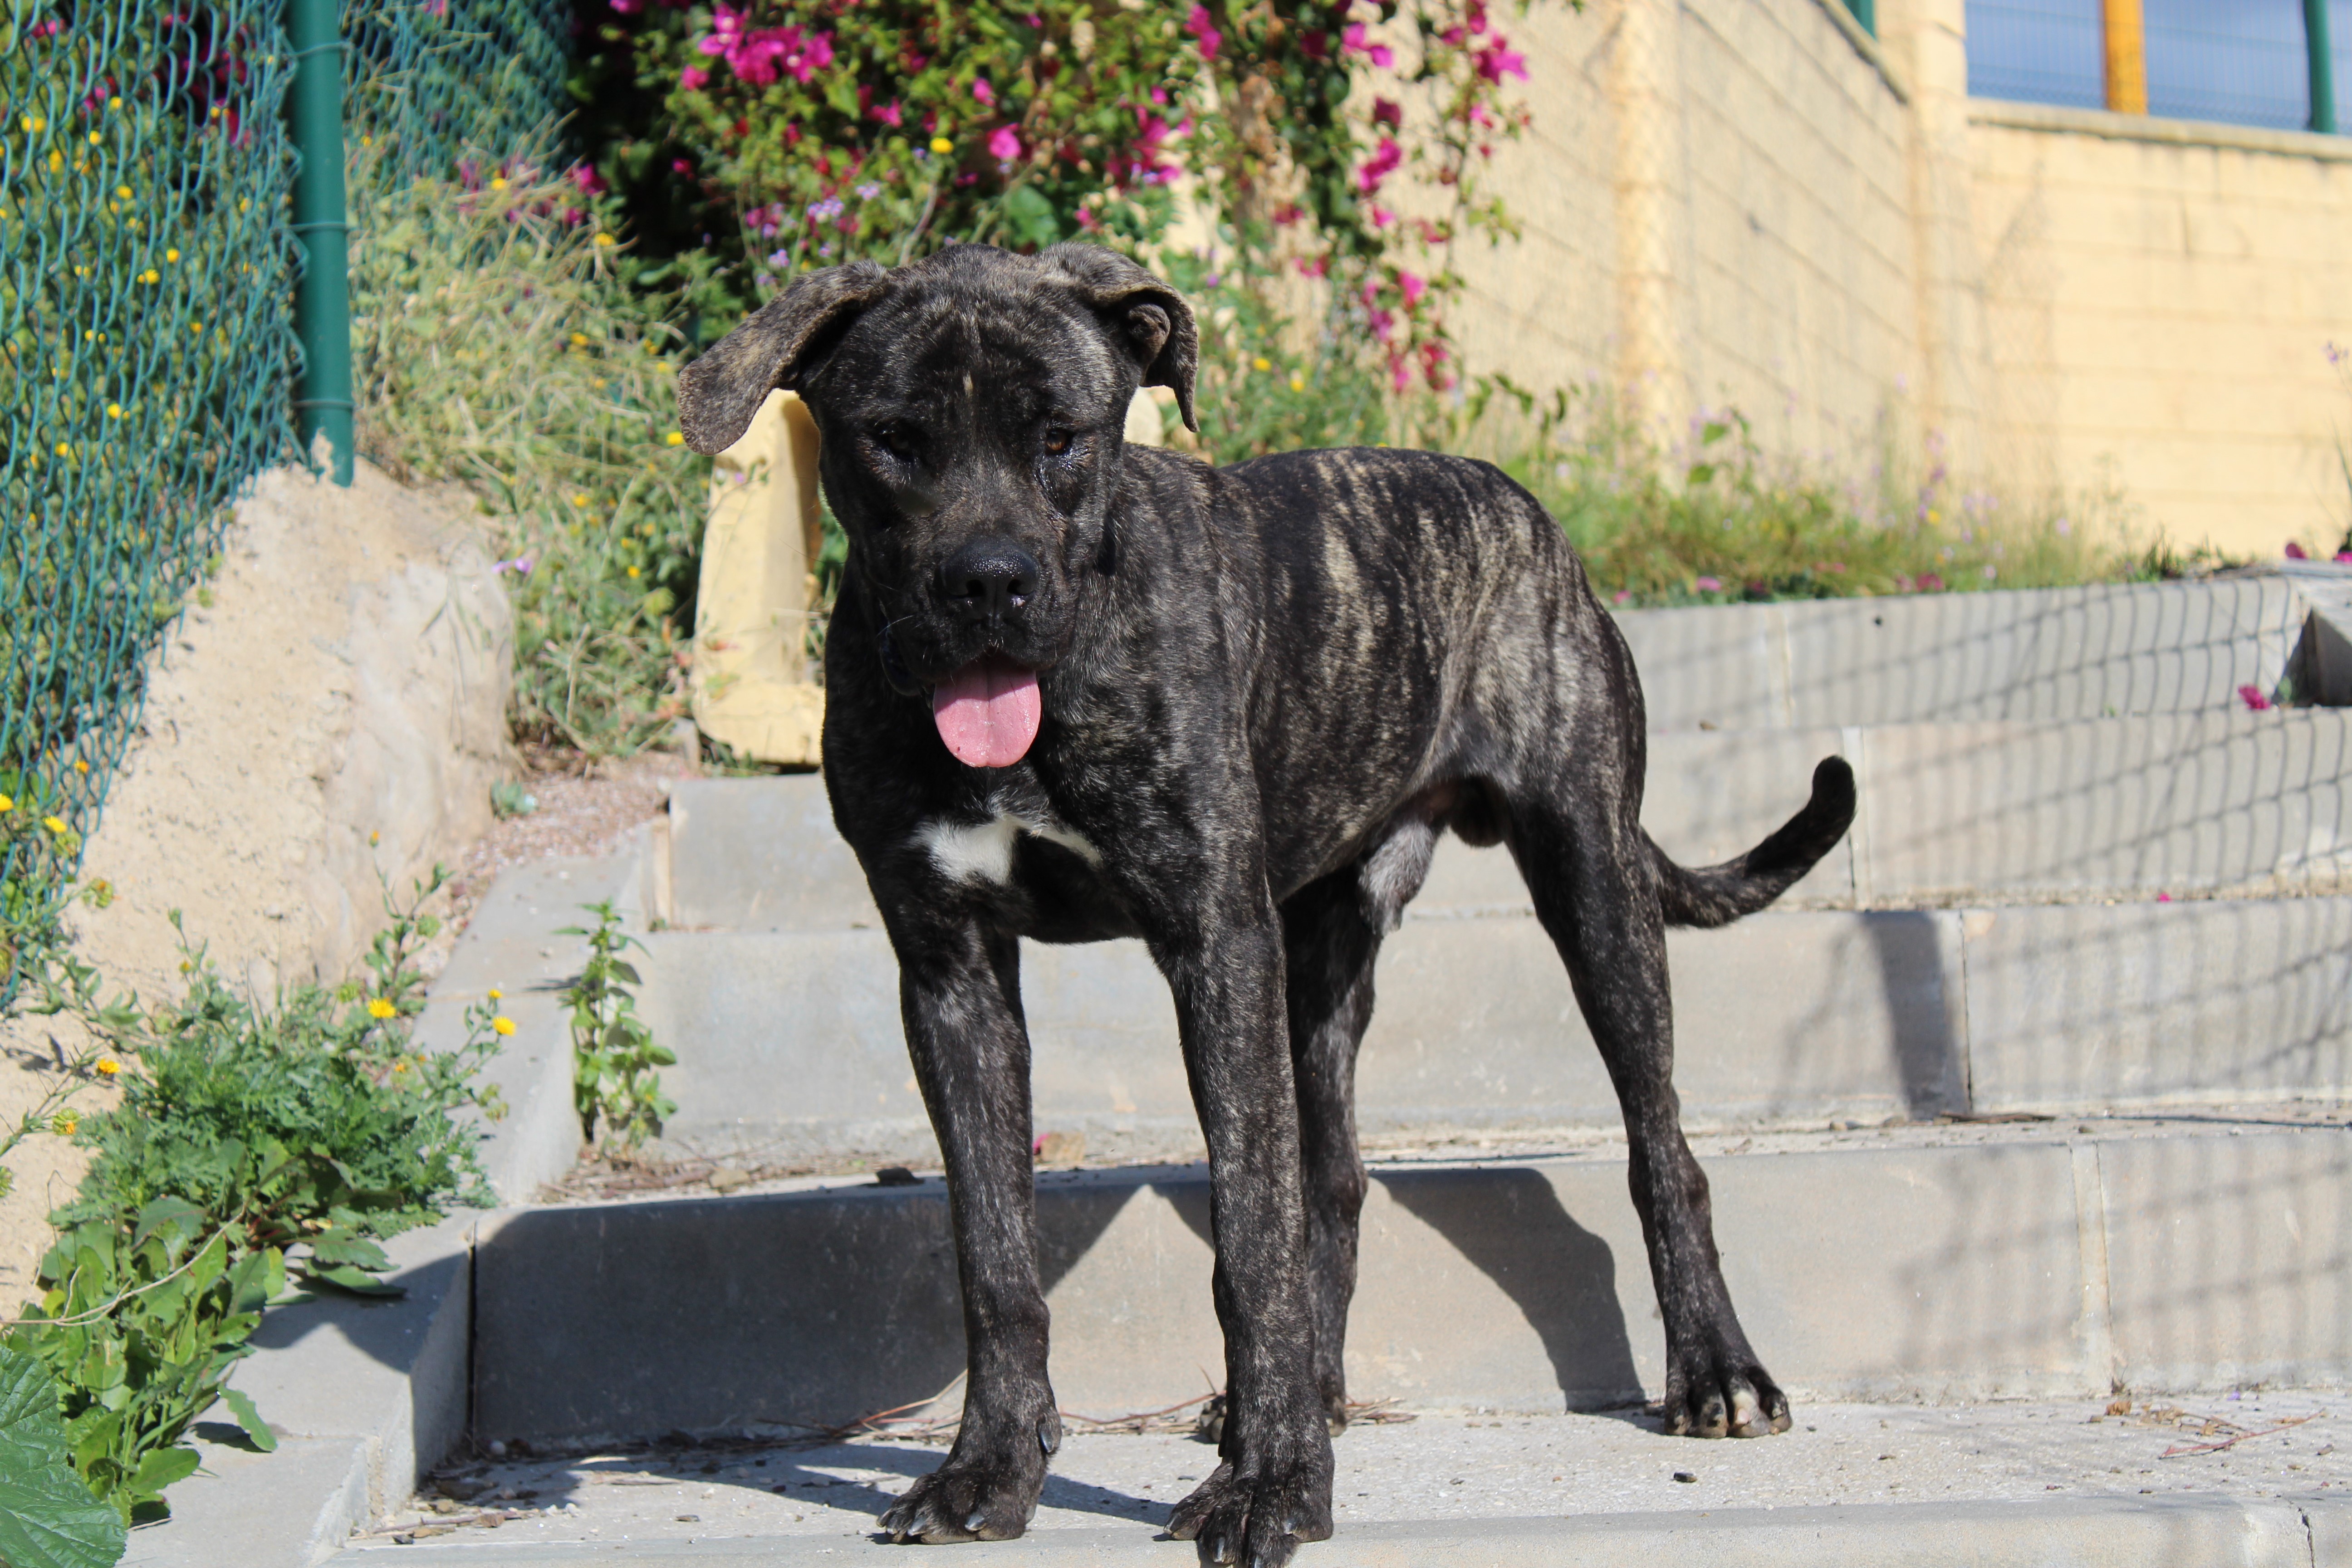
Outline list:
[[[1101,402],[1134,376],[1174,388],[1192,425],[1197,355],[1183,296],[1115,252],[953,244],[898,270],[856,261],[809,273],[684,369],[677,414],[696,451],[722,451],[771,388],[823,404],[891,388],[917,397],[917,381],[934,397],[1028,383]]]

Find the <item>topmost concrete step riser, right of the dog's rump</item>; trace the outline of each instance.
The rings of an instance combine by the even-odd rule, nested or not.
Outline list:
[[[2338,614],[2338,576],[1642,609],[1618,625],[1658,731],[2201,712],[2291,670],[2333,686],[2310,618]]]

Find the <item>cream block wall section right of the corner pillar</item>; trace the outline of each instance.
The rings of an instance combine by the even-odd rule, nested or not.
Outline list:
[[[1978,101],[1969,148],[1999,468],[2107,463],[2173,538],[2333,552],[2352,139]]]

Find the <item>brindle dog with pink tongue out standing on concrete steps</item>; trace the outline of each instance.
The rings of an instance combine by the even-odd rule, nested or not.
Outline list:
[[[1185,301],[1112,252],[962,244],[811,273],[680,378],[696,451],[797,390],[849,534],[826,788],[898,954],[971,1356],[955,1450],[884,1530],[1004,1540],[1037,1507],[1061,1422],[1018,938],[1141,936],[1209,1143],[1225,1331],[1223,1462],[1169,1530],[1254,1568],[1329,1537],[1355,1053],[1446,827],[1510,846],[1618,1088],[1668,1432],[1783,1432],[1677,1119],[1663,938],[1797,882],[1853,773],[1825,759],[1757,849],[1675,865],[1639,820],[1625,639],[1536,498],[1425,451],[1211,468],[1124,444],[1138,386],[1197,428],[1195,360]]]

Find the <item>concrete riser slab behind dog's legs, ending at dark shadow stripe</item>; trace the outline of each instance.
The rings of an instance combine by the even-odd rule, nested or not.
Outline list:
[[[668,1143],[713,1157],[929,1159],[898,966],[880,931],[654,933],[642,1013],[680,1044]],[[1693,1117],[1933,1117],[1966,1107],[1959,917],[1776,912],[1668,936],[1677,1088]],[[1023,943],[1040,1126],[1096,1152],[1192,1126],[1167,983],[1141,943]],[[1616,1124],[1566,971],[1534,917],[1411,919],[1381,954],[1369,1128]]]

